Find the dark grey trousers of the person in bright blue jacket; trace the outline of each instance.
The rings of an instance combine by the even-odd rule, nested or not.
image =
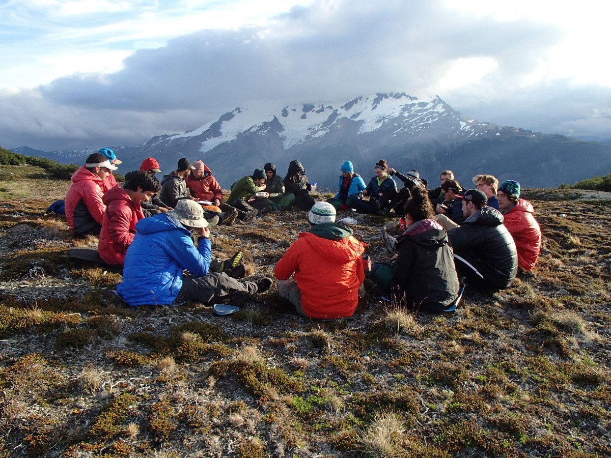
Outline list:
[[[224,272],[213,272],[204,277],[194,277],[191,274],[183,275],[183,287],[180,288],[174,302],[210,302],[211,300],[221,299],[234,291],[244,293],[257,293],[257,283],[240,282],[235,278],[229,277]]]

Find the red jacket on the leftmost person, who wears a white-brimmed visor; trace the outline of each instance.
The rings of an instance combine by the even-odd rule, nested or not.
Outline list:
[[[65,198],[66,219],[72,231],[81,234],[102,224],[106,205],[102,202],[104,180],[83,165],[73,173]]]

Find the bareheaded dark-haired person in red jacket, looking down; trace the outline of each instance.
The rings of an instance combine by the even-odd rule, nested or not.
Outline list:
[[[98,253],[105,263],[123,265],[125,252],[136,234],[136,223],[144,218],[140,203],[150,199],[160,187],[152,173],[136,172],[125,182],[125,189],[115,186],[104,194],[106,211]]]

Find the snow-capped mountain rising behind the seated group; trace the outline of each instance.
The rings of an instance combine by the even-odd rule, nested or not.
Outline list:
[[[453,170],[467,187],[477,173],[549,187],[611,168],[609,145],[480,122],[438,96],[405,93],[361,96],[337,107],[285,106],[273,114],[238,107],[184,134],[114,150],[123,173],[148,156],[158,159],[166,173],[182,157],[202,159],[224,187],[266,162],[274,162],[284,176],[293,159],[304,164],[310,181],[333,190],[346,159],[366,182],[375,162],[384,158],[403,172],[419,170],[434,186],[444,169]]]

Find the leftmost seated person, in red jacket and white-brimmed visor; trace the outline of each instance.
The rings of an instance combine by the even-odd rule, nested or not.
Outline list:
[[[77,237],[100,235],[102,215],[106,205],[102,202],[104,181],[111,170],[117,170],[106,156],[93,153],[86,164],[73,173],[65,198],[66,219]]]

